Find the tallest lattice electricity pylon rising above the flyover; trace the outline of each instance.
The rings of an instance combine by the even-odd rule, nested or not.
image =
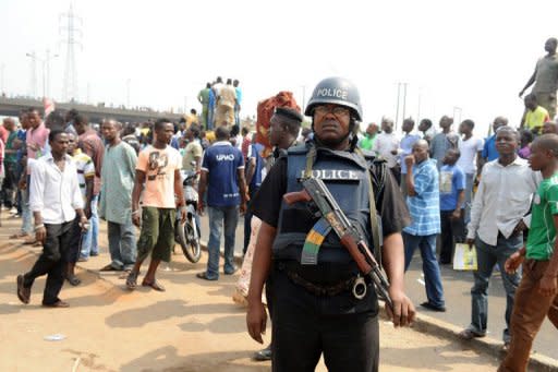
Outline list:
[[[65,70],[64,70],[64,87],[62,92],[62,99],[65,101],[77,99],[77,70],[75,67],[75,46],[83,49],[82,45],[82,25],[83,21],[80,16],[74,14],[72,5],[68,13],[60,14],[59,21],[60,35],[65,34],[65,39],[61,43],[66,44],[65,55]],[[65,25],[62,25],[65,24]]]

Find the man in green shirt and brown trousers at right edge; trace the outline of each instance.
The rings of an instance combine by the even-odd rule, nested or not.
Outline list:
[[[536,139],[529,160],[544,180],[533,197],[526,247],[513,253],[505,265],[506,272],[514,273],[523,263],[523,277],[515,291],[511,343],[499,372],[526,370],[533,339],[546,316],[558,328],[558,135]]]

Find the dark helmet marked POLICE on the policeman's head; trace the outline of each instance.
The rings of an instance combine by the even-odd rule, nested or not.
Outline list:
[[[318,105],[340,105],[352,109],[356,120],[362,120],[361,96],[356,86],[344,77],[327,77],[316,85],[304,115],[312,116]]]

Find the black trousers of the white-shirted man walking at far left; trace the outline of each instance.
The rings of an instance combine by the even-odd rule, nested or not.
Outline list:
[[[47,239],[43,245],[43,253],[31,272],[23,276],[23,286],[29,288],[37,277],[47,275],[43,293],[44,304],[52,304],[59,300],[58,295],[64,284],[64,256],[70,248],[76,224],[76,219],[60,225],[45,224]]]

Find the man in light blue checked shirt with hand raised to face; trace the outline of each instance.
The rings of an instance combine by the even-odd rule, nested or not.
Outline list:
[[[440,191],[436,160],[428,156],[428,142],[418,140],[413,153],[404,159],[407,206],[412,224],[403,229],[405,271],[416,248],[421,249],[423,273],[428,301],[421,307],[432,311],[446,311],[440,267],[436,261],[436,236],[440,232]]]

